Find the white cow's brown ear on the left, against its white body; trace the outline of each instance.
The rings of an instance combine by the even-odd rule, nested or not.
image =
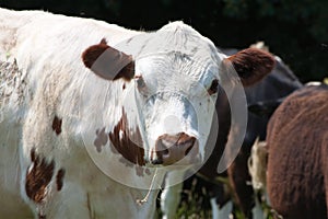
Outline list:
[[[108,46],[105,39],[86,48],[82,54],[82,60],[86,68],[106,80],[122,78],[130,81],[134,77],[132,56]]]

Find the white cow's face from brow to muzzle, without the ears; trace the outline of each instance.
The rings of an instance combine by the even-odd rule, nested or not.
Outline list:
[[[136,90],[153,164],[199,163],[210,131],[219,85],[215,62],[179,51],[140,58]]]

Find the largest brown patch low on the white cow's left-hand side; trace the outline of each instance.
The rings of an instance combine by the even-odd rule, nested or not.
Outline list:
[[[26,195],[35,203],[42,203],[54,175],[55,162],[47,162],[45,158],[35,153],[35,149],[31,150],[31,160],[33,168],[26,173]]]

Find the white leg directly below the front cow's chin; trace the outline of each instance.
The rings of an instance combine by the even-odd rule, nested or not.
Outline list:
[[[185,171],[172,171],[165,177],[165,185],[161,195],[161,209],[165,219],[175,218],[180,201],[184,175]],[[181,183],[172,186],[174,182]]]

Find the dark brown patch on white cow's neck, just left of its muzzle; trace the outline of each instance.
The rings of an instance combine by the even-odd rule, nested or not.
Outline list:
[[[142,138],[139,127],[131,131],[129,129],[128,118],[125,110],[122,108],[122,116],[118,124],[109,132],[109,139],[115,149],[128,161],[144,165],[144,150],[142,148]]]

